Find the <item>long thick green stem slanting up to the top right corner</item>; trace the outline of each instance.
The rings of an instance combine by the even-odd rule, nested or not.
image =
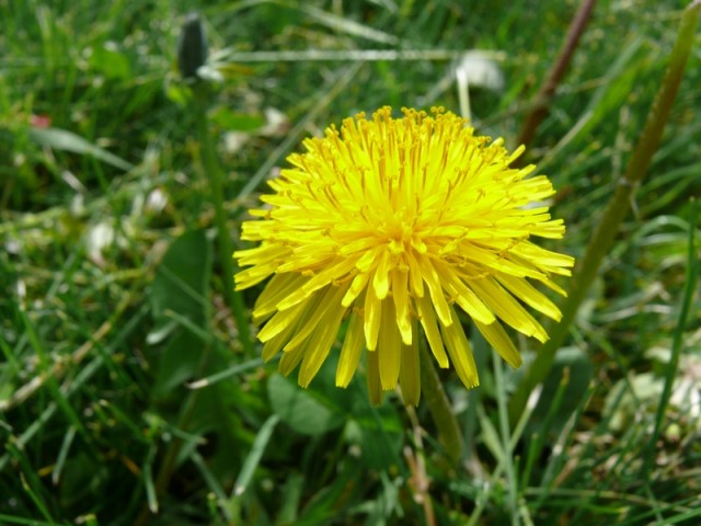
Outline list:
[[[679,82],[691,52],[699,19],[699,8],[701,8],[701,1],[696,0],[683,12],[677,42],[671,50],[665,78],[647,115],[645,128],[628,163],[625,173],[601,216],[586,253],[574,272],[567,299],[562,308],[562,320],[551,328],[550,340],[542,346],[512,397],[509,402],[509,420],[512,423],[516,422],[524,411],[532,389],[542,382],[550,371],[554,363],[555,352],[564,343],[568,334],[570,324],[586,297],[601,261],[613,245],[619,227],[631,206],[635,188],[647,172],[653,155],[659,146],[665,123],[669,116],[669,111],[677,95]]]

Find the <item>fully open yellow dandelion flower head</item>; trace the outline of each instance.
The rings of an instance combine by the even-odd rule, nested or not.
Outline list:
[[[560,310],[531,282],[551,281],[574,260],[531,236],[562,238],[561,219],[540,203],[554,193],[544,175],[509,168],[503,140],[474,135],[443,108],[433,116],[382,107],[304,140],[292,168],[271,181],[268,206],[251,210],[234,253],[249,266],[238,289],[269,276],[253,310],[263,357],[280,351],[279,368],[297,366],[307,387],[347,320],[336,370],[346,387],[366,350],[370,398],[399,384],[405,403],[421,395],[418,341],[425,334],[440,367],[479,384],[458,308],[513,367],[521,364],[503,323],[543,342],[548,334],[524,305],[559,320]],[[301,365],[300,365],[301,364]]]

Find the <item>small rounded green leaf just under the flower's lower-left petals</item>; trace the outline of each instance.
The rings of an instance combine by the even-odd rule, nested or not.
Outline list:
[[[343,423],[342,412],[331,400],[302,389],[283,375],[271,377],[267,393],[275,414],[297,433],[322,435]]]

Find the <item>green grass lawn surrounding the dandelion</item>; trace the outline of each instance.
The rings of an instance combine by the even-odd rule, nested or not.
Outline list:
[[[584,253],[685,5],[598,3],[527,153],[559,190],[552,211],[568,231],[556,250]],[[498,52],[504,87],[473,85],[472,117],[516,146],[576,8],[0,2],[0,523],[698,524],[698,34],[633,213],[540,398],[509,423],[524,371],[494,365],[478,336],[479,389],[441,371],[461,464],[423,404],[390,396],[374,408],[363,375],[334,387],[333,359],[301,390],[248,356],[225,294],[203,145],[175,70],[188,10],[222,52],[210,133],[238,247],[245,208],[303,137],[386,104],[459,111],[463,50]],[[273,55],[243,61],[260,52]],[[265,129],[271,108],[285,118]],[[518,343],[532,361],[532,342]]]

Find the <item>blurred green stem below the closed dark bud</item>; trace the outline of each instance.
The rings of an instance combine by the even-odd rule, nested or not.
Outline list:
[[[211,186],[211,202],[215,206],[215,222],[217,226],[217,240],[219,247],[219,260],[223,268],[223,288],[227,305],[231,308],[233,317],[239,330],[239,340],[243,346],[246,357],[254,355],[253,344],[251,342],[251,331],[249,329],[249,320],[245,311],[243,297],[234,288],[233,275],[235,266],[233,262],[233,245],[231,243],[230,230],[227,227],[227,214],[223,208],[225,190],[223,176],[215,147],[209,135],[207,123],[207,106],[209,102],[209,87],[198,81],[194,85],[195,117],[197,121],[197,135],[202,145],[202,163],[209,178]]]

